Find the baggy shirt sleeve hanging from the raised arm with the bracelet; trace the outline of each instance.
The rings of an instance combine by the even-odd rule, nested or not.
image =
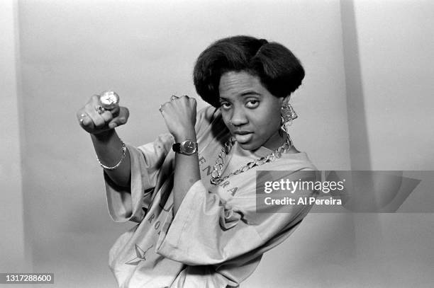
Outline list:
[[[107,205],[113,221],[139,223],[145,217],[158,173],[173,142],[171,134],[161,134],[154,142],[138,148],[126,144],[131,159],[130,188],[119,187],[104,173]]]

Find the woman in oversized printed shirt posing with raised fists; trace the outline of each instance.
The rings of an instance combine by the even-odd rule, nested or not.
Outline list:
[[[119,139],[127,108],[106,110],[93,96],[79,110],[111,217],[138,222],[110,250],[119,287],[238,287],[294,231],[308,205],[262,213],[272,211],[257,207],[255,177],[315,170],[281,129],[296,117],[288,100],[303,78],[286,47],[236,36],[214,42],[194,67],[196,91],[211,106],[196,115],[194,98],[172,96],[160,107],[170,134],[153,143]]]

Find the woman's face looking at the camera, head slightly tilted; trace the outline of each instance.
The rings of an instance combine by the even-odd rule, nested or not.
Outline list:
[[[223,121],[241,148],[273,150],[283,144],[279,129],[284,98],[273,96],[257,76],[246,71],[223,74],[218,91]]]

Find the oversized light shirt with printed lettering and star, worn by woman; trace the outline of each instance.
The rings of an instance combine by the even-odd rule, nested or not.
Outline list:
[[[210,183],[218,153],[230,137],[221,111],[211,106],[198,112],[201,180],[194,183],[173,217],[174,138],[160,135],[135,148],[131,185],[117,187],[105,175],[109,214],[113,221],[138,224],[118,238],[109,253],[109,266],[119,287],[220,288],[238,287],[260,263],[265,251],[287,238],[306,216],[308,205],[286,213],[258,213],[257,170],[315,170],[305,153],[281,158]],[[264,146],[255,152],[234,144],[222,175],[272,153]]]

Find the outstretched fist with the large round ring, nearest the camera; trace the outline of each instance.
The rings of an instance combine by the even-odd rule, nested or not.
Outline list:
[[[130,115],[128,108],[116,105],[99,114],[96,107],[101,105],[99,96],[92,96],[83,108],[77,111],[79,125],[90,134],[99,134],[126,124]]]

